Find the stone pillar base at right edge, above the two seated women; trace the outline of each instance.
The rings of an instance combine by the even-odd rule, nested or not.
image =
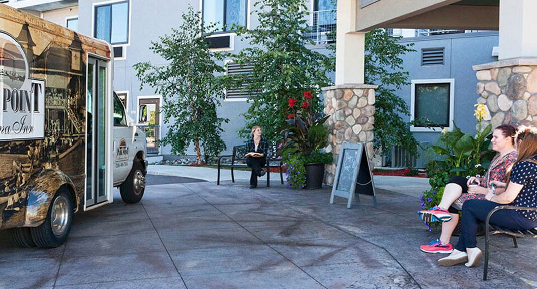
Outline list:
[[[484,125],[528,121],[537,123],[537,59],[517,58],[474,65],[477,103],[487,105]],[[483,125],[482,125],[483,127]]]

